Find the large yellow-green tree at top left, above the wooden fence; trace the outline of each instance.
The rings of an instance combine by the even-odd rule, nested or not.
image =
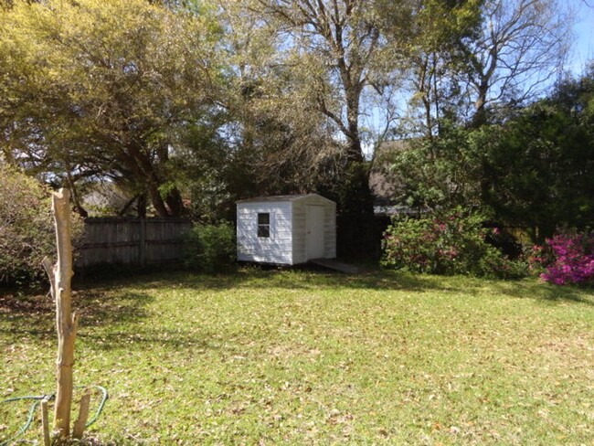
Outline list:
[[[143,0],[15,2],[0,12],[3,150],[76,192],[107,176],[179,215],[175,133],[217,100],[218,28]]]

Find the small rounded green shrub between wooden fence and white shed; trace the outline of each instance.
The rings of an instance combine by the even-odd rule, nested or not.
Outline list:
[[[236,244],[233,225],[195,225],[186,235],[184,264],[197,271],[221,271],[235,263]]]

